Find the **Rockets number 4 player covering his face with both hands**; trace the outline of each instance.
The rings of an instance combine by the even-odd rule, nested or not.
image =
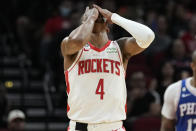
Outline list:
[[[108,23],[121,26],[133,37],[110,41]],[[154,33],[145,25],[97,5],[86,8],[82,24],[61,44],[69,131],[125,130],[127,63],[153,39]]]

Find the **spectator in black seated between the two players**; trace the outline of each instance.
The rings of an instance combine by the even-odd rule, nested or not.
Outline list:
[[[132,130],[135,119],[140,117],[160,116],[160,96],[154,90],[146,88],[145,76],[142,72],[134,72],[128,80],[127,130]],[[134,126],[134,125],[133,125]]]

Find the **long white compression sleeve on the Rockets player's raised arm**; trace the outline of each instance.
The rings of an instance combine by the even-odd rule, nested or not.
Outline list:
[[[143,24],[125,19],[116,13],[112,14],[111,20],[128,31],[136,39],[137,44],[141,48],[147,48],[154,40],[154,32]]]

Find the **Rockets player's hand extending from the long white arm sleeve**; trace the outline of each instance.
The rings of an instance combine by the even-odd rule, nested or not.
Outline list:
[[[105,17],[107,19],[107,22],[109,24],[112,24],[113,23],[112,20],[111,20],[112,12],[110,12],[107,9],[102,9],[101,7],[99,7],[96,4],[93,4],[93,7],[96,8],[103,15],[103,17]]]

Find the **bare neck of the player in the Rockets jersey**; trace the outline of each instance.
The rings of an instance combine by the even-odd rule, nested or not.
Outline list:
[[[97,48],[102,48],[108,42],[108,36],[105,32],[93,33],[91,35],[90,43]]]

